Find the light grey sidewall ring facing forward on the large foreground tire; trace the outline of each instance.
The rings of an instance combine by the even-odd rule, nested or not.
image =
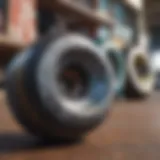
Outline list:
[[[58,60],[65,50],[76,47],[77,45],[92,50],[96,54],[99,61],[104,65],[106,75],[110,75],[110,94],[104,99],[100,107],[90,108],[88,112],[86,112],[86,110],[77,110],[74,112],[73,110],[71,111],[69,108],[67,108],[66,101],[64,103],[63,98],[59,96],[59,89],[55,83]],[[77,34],[72,34],[59,38],[54,44],[51,43],[51,45],[48,45],[44,52],[45,54],[41,57],[39,65],[37,66],[37,74],[35,75],[37,89],[40,93],[39,96],[42,99],[43,106],[46,106],[48,112],[63,124],[89,126],[91,124],[101,122],[108,113],[110,103],[114,97],[113,71],[109,62],[106,63],[104,54],[99,54],[99,52],[102,51],[94,47],[93,44],[86,38]]]

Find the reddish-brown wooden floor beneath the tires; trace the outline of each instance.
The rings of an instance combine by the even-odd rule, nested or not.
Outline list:
[[[0,92],[0,160],[160,160],[160,93],[117,100],[110,117],[74,144],[45,144],[27,135]]]

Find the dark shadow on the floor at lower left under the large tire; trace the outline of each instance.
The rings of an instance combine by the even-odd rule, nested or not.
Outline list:
[[[23,133],[0,133],[0,153],[36,150],[44,148],[67,147],[80,141],[45,142]]]

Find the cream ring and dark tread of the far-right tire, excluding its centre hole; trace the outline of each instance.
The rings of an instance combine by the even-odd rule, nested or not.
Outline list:
[[[139,76],[134,66],[134,60],[137,56],[142,56],[149,67],[148,76],[144,83],[140,82]],[[126,57],[126,68],[127,68],[127,81],[125,85],[125,95],[127,98],[146,98],[154,89],[155,84],[155,73],[150,66],[150,58],[146,51],[141,47],[134,47],[130,50]]]

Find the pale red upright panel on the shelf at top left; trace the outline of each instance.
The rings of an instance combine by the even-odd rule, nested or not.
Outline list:
[[[10,0],[9,34],[30,43],[36,38],[35,0]]]

